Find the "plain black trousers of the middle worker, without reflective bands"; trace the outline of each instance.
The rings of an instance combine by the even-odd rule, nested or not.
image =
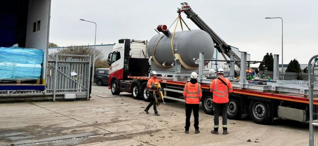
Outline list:
[[[185,104],[185,130],[189,131],[190,117],[193,110],[194,128],[199,129],[199,104]]]

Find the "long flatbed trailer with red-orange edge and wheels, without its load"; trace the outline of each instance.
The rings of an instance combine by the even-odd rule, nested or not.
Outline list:
[[[149,77],[128,76],[133,82],[139,83],[141,92],[137,90],[132,94],[139,95],[145,101],[149,101],[146,88]],[[187,79],[174,81],[172,77],[157,77],[164,91],[164,98],[182,101],[183,88]],[[213,114],[212,93],[210,84],[201,83],[203,90],[202,107],[207,114]],[[128,92],[129,92],[128,88]],[[127,91],[126,91],[127,92]],[[178,97],[178,98],[176,98]],[[318,105],[317,98],[314,105]],[[287,118],[300,122],[309,120],[309,98],[306,94],[260,91],[233,87],[233,93],[229,94],[228,117],[239,119],[250,116],[255,123],[266,124],[274,120]]]

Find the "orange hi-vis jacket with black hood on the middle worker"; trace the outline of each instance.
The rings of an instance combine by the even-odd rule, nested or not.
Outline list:
[[[199,104],[202,98],[202,89],[199,83],[188,82],[183,89],[183,98],[187,104]]]

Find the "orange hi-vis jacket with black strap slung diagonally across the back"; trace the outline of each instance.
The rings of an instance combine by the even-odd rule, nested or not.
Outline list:
[[[233,92],[232,84],[223,76],[218,78],[222,79],[227,84],[227,86],[223,84],[223,82],[219,79],[213,79],[210,85],[210,92],[213,93],[212,101],[217,104],[227,103],[229,102],[229,93]]]

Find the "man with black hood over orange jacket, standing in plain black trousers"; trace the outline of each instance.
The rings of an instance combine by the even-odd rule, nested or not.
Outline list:
[[[189,133],[190,117],[193,110],[195,134],[200,133],[199,130],[199,103],[202,98],[201,85],[197,82],[197,73],[192,72],[190,82],[185,84],[183,89],[183,98],[185,100],[185,133]]]

